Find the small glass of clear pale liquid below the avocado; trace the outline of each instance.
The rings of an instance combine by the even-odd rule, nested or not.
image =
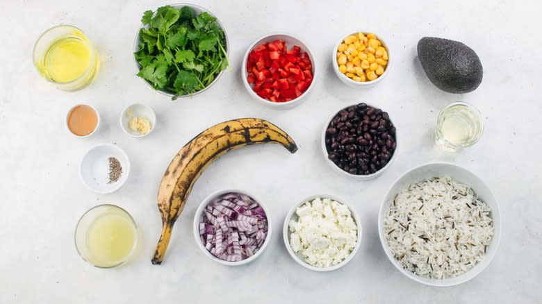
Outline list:
[[[450,103],[438,114],[435,141],[444,149],[458,150],[472,146],[482,137],[482,133],[482,114],[470,103]]]

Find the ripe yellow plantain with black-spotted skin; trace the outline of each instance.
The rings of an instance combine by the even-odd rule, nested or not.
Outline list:
[[[224,121],[199,133],[173,158],[165,170],[158,190],[158,209],[162,217],[162,235],[152,258],[161,264],[170,243],[173,224],[183,211],[195,181],[213,160],[233,149],[249,144],[275,142],[290,153],[297,146],[288,134],[269,121],[257,118]]]

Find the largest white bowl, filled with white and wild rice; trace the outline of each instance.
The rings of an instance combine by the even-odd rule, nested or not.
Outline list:
[[[398,178],[381,203],[379,238],[405,276],[425,285],[458,285],[491,262],[501,220],[487,185],[446,162],[415,167]]]

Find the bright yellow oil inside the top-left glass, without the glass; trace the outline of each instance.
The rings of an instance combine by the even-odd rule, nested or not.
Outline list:
[[[81,77],[90,66],[92,50],[81,37],[56,40],[44,56],[44,72],[56,83],[69,83]]]

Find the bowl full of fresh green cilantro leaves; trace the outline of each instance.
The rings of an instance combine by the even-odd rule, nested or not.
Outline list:
[[[141,22],[133,45],[137,75],[172,100],[204,92],[229,66],[224,26],[205,8],[162,6]]]

